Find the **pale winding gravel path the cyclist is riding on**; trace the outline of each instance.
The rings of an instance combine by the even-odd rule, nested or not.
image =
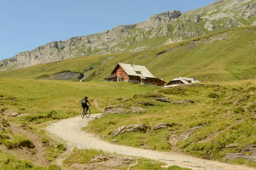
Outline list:
[[[256,170],[252,167],[241,165],[232,165],[218,161],[188,156],[177,152],[159,152],[154,150],[145,150],[134,147],[122,146],[102,141],[97,136],[85,133],[81,130],[88,122],[100,114],[93,114],[90,118],[82,119],[81,116],[64,119],[50,124],[46,129],[67,141],[71,147],[79,149],[99,149],[109,153],[118,153],[128,156],[141,156],[148,159],[154,159],[166,162],[169,165],[178,165],[180,167],[189,167],[193,170]]]

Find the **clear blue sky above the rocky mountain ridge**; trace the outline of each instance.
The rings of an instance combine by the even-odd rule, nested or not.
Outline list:
[[[0,0],[0,61],[51,41],[65,41],[181,12],[217,0]]]

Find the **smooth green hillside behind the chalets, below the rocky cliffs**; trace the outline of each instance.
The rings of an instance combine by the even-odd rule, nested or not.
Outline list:
[[[195,76],[199,81],[254,79],[256,73],[256,26],[207,34],[148,51],[106,54],[37,65],[0,77],[35,79],[59,71],[87,71],[87,81],[104,81],[117,62],[145,65],[156,77],[169,81],[177,76]],[[159,54],[162,53],[162,54]],[[114,57],[108,59],[108,57]],[[103,60],[107,62],[102,63]]]

